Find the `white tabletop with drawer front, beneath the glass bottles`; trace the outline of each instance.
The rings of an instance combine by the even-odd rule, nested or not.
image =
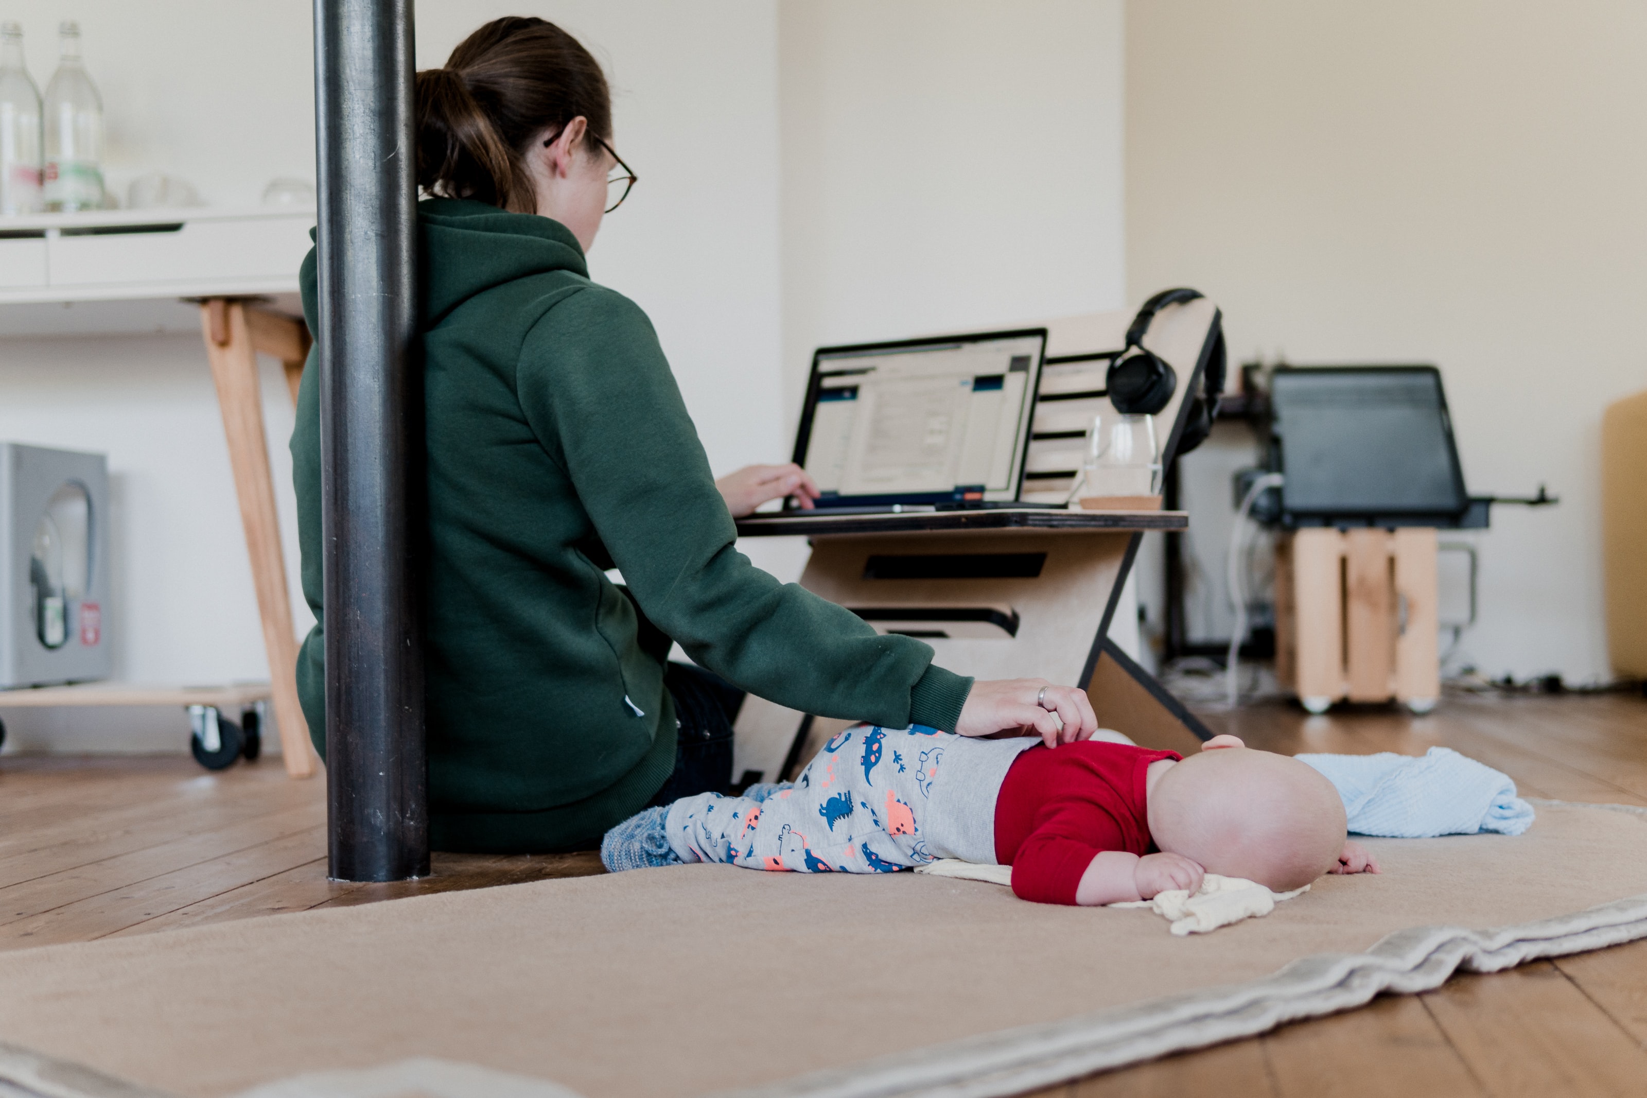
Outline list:
[[[296,309],[315,211],[199,207],[0,219],[0,336],[194,331],[181,298]]]

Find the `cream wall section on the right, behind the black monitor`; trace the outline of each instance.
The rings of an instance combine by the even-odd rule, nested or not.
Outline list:
[[[1603,407],[1647,385],[1647,8],[1127,8],[1127,281],[1194,285],[1232,357],[1436,362],[1495,509],[1492,673],[1606,673]]]

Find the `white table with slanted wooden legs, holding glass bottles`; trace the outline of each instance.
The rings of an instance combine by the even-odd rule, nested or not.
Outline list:
[[[257,384],[257,354],[270,354],[285,365],[296,398],[310,347],[308,329],[296,318],[298,267],[313,226],[313,209],[292,207],[97,211],[0,221],[0,336],[176,331],[191,318],[199,326],[229,441],[270,673],[262,690],[112,683],[0,693],[0,708],[216,706],[272,696],[287,772],[315,772],[298,706],[298,640]]]

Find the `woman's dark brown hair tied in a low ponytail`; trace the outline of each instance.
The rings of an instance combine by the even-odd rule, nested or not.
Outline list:
[[[606,76],[578,40],[532,16],[492,20],[463,40],[446,67],[417,74],[417,184],[440,198],[473,198],[537,212],[525,171],[532,140],[578,115],[600,151],[611,138]]]

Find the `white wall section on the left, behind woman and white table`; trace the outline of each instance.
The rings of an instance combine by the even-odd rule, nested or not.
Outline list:
[[[542,15],[606,64],[618,148],[641,174],[590,258],[652,316],[716,471],[787,456],[779,398],[777,13],[772,0],[417,7],[418,63],[440,64],[504,13]],[[313,176],[311,8],[249,0],[13,0],[36,82],[56,23],[81,21],[104,94],[109,179],[166,171],[214,204]],[[268,365],[268,364],[265,364]],[[290,398],[265,374],[295,601]],[[265,678],[245,543],[198,337],[0,341],[0,438],[109,453],[117,486],[117,673]],[[310,624],[298,607],[298,627]],[[170,711],[13,711],[8,749],[178,749]]]

